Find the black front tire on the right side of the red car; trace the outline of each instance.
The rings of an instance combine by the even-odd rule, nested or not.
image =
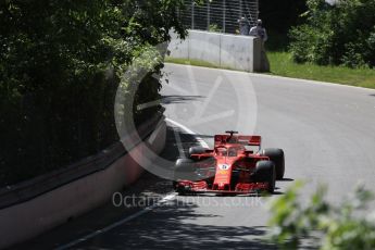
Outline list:
[[[259,161],[257,162],[255,172],[252,176],[257,183],[267,183],[270,193],[275,191],[276,186],[276,171],[275,163],[272,161]]]

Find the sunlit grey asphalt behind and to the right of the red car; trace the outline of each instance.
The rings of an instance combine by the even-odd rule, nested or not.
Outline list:
[[[202,135],[232,128],[260,134],[263,148],[285,150],[287,178],[328,183],[332,199],[357,183],[375,191],[375,90],[174,64],[165,71],[171,72],[171,84],[164,87],[164,96],[185,100],[174,103],[178,108],[167,107],[167,117]],[[222,84],[208,100],[217,77]],[[255,101],[246,103],[247,96]],[[242,103],[257,107],[238,113]],[[195,125],[189,117],[201,107],[205,108],[201,120],[222,110],[235,113]],[[234,122],[243,116],[252,120]],[[210,138],[208,142],[212,145]],[[278,186],[283,190],[288,184]]]

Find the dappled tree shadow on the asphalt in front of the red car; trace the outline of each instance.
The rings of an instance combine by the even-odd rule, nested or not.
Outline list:
[[[77,246],[78,249],[276,249],[261,239],[264,227],[199,225],[221,216],[178,200]],[[152,222],[152,223],[150,223]],[[192,223],[198,222],[198,223]],[[220,223],[218,223],[220,224]]]

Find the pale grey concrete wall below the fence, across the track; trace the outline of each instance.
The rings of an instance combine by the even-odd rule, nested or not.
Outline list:
[[[180,40],[174,33],[171,36],[171,58],[199,60],[246,72],[266,70],[262,64],[260,38],[200,30],[189,30],[185,40]]]

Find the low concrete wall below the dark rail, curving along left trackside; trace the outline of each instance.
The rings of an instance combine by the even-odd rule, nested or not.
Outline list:
[[[165,145],[165,136],[166,124],[164,120],[161,120],[153,132],[147,136],[145,142],[155,153],[160,153]],[[0,210],[0,248],[36,237],[108,202],[113,192],[134,183],[143,172],[143,168],[130,157],[132,153],[141,154],[143,148],[145,145],[138,145],[100,171],[29,200],[22,200],[16,204],[2,208]],[[91,160],[91,164],[97,164],[97,160]],[[33,192],[33,190],[28,191]],[[16,189],[10,192],[16,192]]]

